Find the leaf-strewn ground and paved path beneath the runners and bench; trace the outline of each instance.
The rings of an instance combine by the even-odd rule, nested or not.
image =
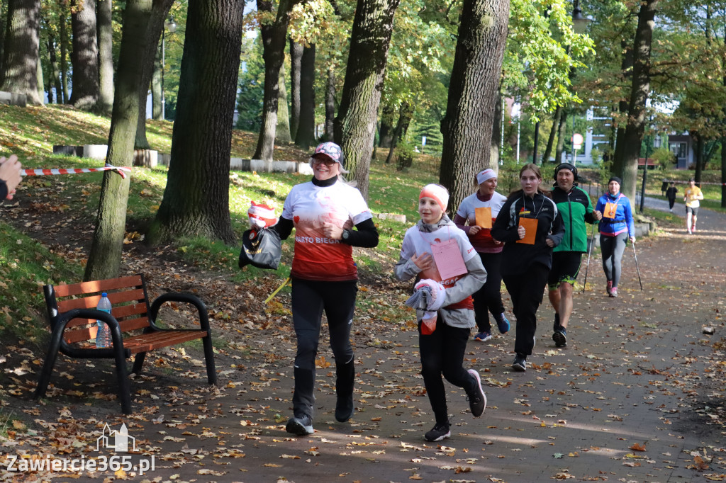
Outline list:
[[[13,142],[12,149],[47,151],[47,140],[18,137]],[[35,159],[47,168],[61,161],[70,162],[48,154]],[[374,166],[373,171],[372,208],[383,207],[375,199],[378,191],[386,193],[391,211],[389,206],[398,202],[391,200],[403,193],[396,211],[410,210],[406,200],[411,197],[405,192],[416,188],[409,186],[412,175],[379,178],[382,170]],[[82,262],[98,180],[25,179],[14,203],[1,208],[1,219],[9,225],[0,223],[5,257],[0,288],[25,284],[25,292],[32,292],[28,303],[35,306],[22,316],[0,307],[3,322],[20,334],[4,339],[0,351],[0,481],[726,480],[723,215],[702,210],[697,236],[686,236],[679,225],[639,239],[642,292],[628,247],[621,296],[605,297],[595,252],[587,290],[582,293],[579,286],[576,293],[569,347],[558,349],[552,342],[552,310],[545,297],[526,373],[510,370],[514,330],[491,342],[471,341],[465,366],[480,371],[489,405],[484,416],[472,418],[465,394],[447,386],[454,426],[452,438],[439,443],[423,440],[433,415],[419,374],[414,316],[403,305],[409,286],[389,276],[412,220],[381,220],[383,243],[375,251],[356,252],[362,280],[354,322],[354,417],[346,424],[333,417],[335,370],[324,329],[317,361],[316,432],[291,437],[285,432],[295,350],[289,290],[264,303],[285,277],[265,272],[240,277],[227,248],[200,248],[194,241],[179,247],[142,244],[139,213],[153,210],[160,199],[155,176],[145,170],[134,173],[131,189],[138,200],[130,207],[122,271],[146,274],[150,298],[192,291],[206,302],[213,317],[219,386],[205,383],[202,352],[191,343],[150,353],[144,373],[131,381],[132,415],[120,414],[108,360],[61,356],[47,397],[32,399],[46,346],[31,323],[42,308],[41,288],[29,281],[57,275],[60,260]],[[256,194],[272,200],[284,197],[274,191],[302,181],[250,173],[238,173],[232,181],[240,179],[241,184],[259,183]],[[234,209],[244,212],[246,207]],[[78,274],[64,272],[60,279],[74,276]],[[13,300],[25,296],[12,293]],[[511,309],[506,294],[505,305]],[[176,324],[185,315],[184,307],[171,306],[161,318]],[[714,334],[703,334],[704,327]],[[105,424],[114,431],[126,425],[134,438],[129,452],[114,453],[103,445],[97,451]],[[114,455],[128,459],[100,469]],[[152,468],[140,474],[142,460],[150,458]],[[35,470],[28,467],[31,459]],[[21,471],[8,468],[12,461],[12,470]],[[40,471],[41,461],[60,461],[60,468]],[[64,471],[62,464],[72,461],[94,464]]]

